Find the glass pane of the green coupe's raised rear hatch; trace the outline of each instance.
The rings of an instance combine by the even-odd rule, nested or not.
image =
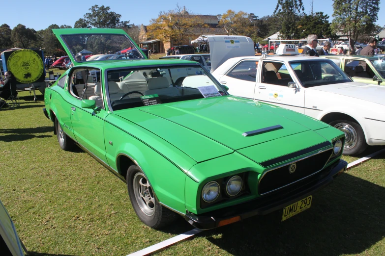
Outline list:
[[[72,34],[61,35],[64,43],[73,56],[77,53],[88,54],[115,54],[122,50],[132,49],[134,57],[138,59],[144,59],[145,56],[138,51],[138,48],[132,43],[132,41],[126,36],[121,34]],[[99,55],[101,56],[101,55]],[[76,62],[82,62],[80,58],[75,58]],[[91,58],[88,60],[108,60],[108,58]]]

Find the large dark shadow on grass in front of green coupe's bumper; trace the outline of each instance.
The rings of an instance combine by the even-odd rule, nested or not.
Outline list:
[[[284,222],[279,210],[201,236],[236,256],[355,255],[384,239],[384,198],[384,187],[345,173],[313,195],[310,209]]]

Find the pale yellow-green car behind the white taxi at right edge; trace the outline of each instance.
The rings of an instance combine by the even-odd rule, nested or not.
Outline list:
[[[323,55],[332,60],[355,82],[384,85],[385,56],[380,55]]]

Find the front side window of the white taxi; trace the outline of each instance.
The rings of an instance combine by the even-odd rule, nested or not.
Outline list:
[[[264,62],[262,82],[287,86],[288,82],[293,82],[285,64],[280,62]]]

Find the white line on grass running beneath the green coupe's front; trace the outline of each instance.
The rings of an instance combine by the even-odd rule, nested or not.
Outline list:
[[[364,161],[366,161],[366,160],[368,160],[368,159],[370,159],[370,158],[372,158],[372,157],[374,157],[374,156],[376,156],[378,154],[384,153],[384,152],[385,152],[385,149],[382,149],[382,150],[377,151],[375,153],[369,154],[369,155],[367,155],[365,157],[359,158],[358,160],[355,160],[354,162],[351,162],[350,164],[348,164],[348,167],[346,169],[350,169],[353,166],[355,166],[355,165],[357,165],[359,163],[362,163],[362,162],[364,162]],[[187,231],[187,232],[185,232],[183,234],[180,234],[180,235],[174,236],[174,237],[172,237],[170,239],[167,239],[167,240],[165,240],[163,242],[154,244],[154,245],[152,245],[150,247],[147,247],[147,248],[145,248],[143,250],[140,250],[138,252],[129,254],[127,256],[146,256],[146,255],[150,255],[150,254],[155,253],[156,251],[159,251],[161,249],[165,249],[165,248],[167,248],[169,246],[172,246],[172,245],[174,245],[174,244],[176,244],[176,243],[178,243],[178,242],[180,242],[182,240],[185,240],[185,239],[187,239],[187,238],[189,238],[191,236],[194,236],[194,235],[196,235],[196,234],[198,234],[198,233],[200,233],[202,231],[203,230],[193,229],[193,230]]]

